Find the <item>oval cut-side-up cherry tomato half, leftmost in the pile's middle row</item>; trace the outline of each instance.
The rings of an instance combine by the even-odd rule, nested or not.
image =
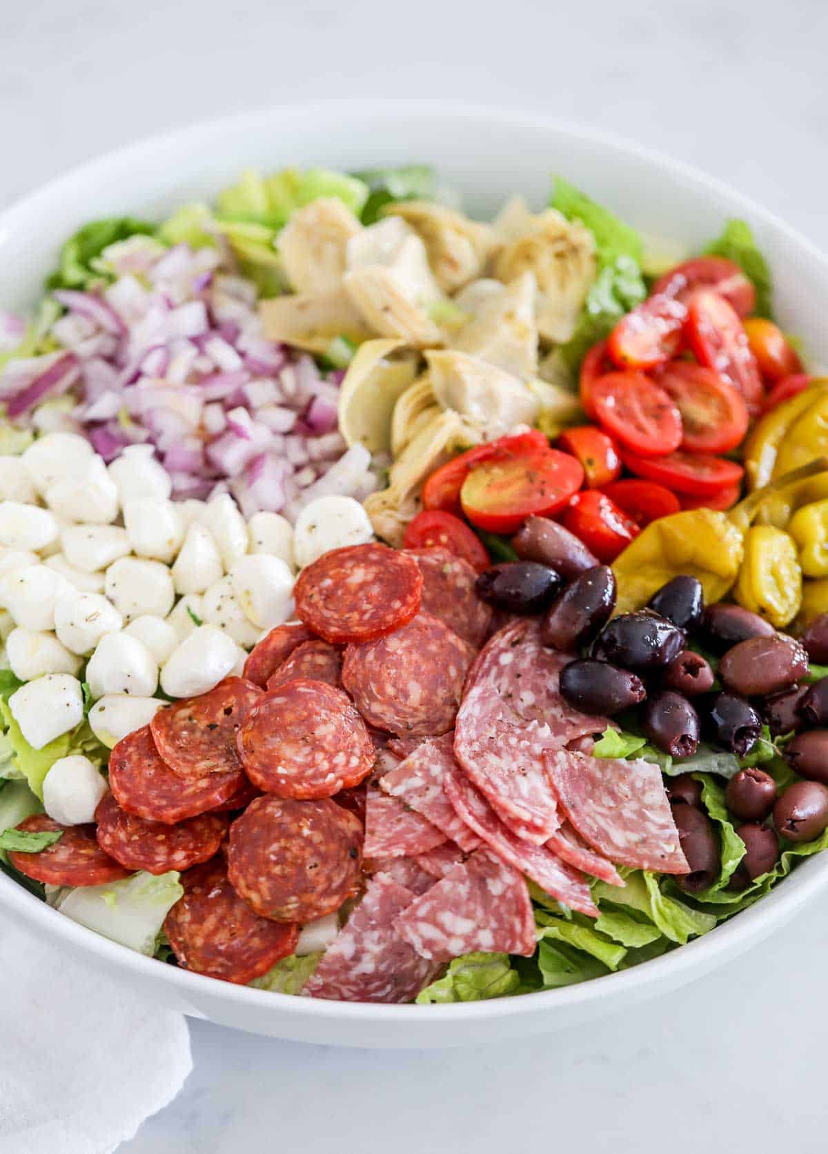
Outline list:
[[[592,384],[596,419],[621,445],[646,457],[681,444],[681,415],[643,373],[606,373]]]

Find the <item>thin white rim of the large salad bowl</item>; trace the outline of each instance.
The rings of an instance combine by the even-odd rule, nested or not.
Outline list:
[[[763,209],[755,201],[733,189],[725,181],[707,175],[703,171],[669,155],[650,149],[634,141],[602,129],[580,126],[573,121],[546,115],[543,112],[500,106],[472,104],[449,99],[400,99],[383,100],[382,107],[376,102],[364,99],[350,100],[315,100],[297,102],[246,112],[232,113],[189,125],[177,126],[166,132],[146,135],[137,141],[111,149],[97,157],[73,166],[43,185],[23,193],[10,204],[0,210],[0,245],[3,233],[15,226],[18,215],[37,213],[42,204],[46,204],[55,195],[61,195],[77,185],[89,181],[100,168],[118,166],[124,162],[139,164],[144,153],[152,153],[177,143],[192,145],[193,138],[211,137],[229,130],[245,130],[259,123],[266,123],[275,117],[301,120],[329,118],[363,118],[370,122],[396,122],[405,117],[439,117],[442,121],[475,121],[485,127],[495,121],[501,127],[515,129],[532,129],[547,132],[573,141],[588,142],[610,153],[634,158],[650,167],[663,171],[673,179],[677,177],[689,186],[692,192],[722,196],[730,204],[746,215],[752,223],[761,222],[788,243],[799,249],[801,255],[828,271],[828,257],[821,249],[792,228],[774,212]],[[249,986],[236,986],[221,982],[217,979],[189,973],[176,966],[167,966],[154,958],[136,953],[127,946],[102,937],[94,930],[61,916],[58,911],[29,893],[10,876],[0,872],[0,906],[15,912],[33,929],[43,929],[54,938],[62,939],[74,946],[79,953],[97,956],[115,971],[133,974],[141,980],[156,979],[182,995],[192,992],[194,1001],[200,996],[218,999],[236,1005],[263,1010],[270,1006],[279,1016],[289,1018],[314,1018],[318,1021],[352,1021],[352,1022],[404,1022],[411,1020],[411,1014],[426,1014],[435,1022],[480,1021],[497,1018],[515,1018],[535,1014],[542,1010],[561,1011],[579,1005],[587,1005],[599,999],[610,998],[613,994],[624,1001],[622,995],[632,996],[642,987],[667,983],[671,979],[679,984],[688,971],[696,971],[699,976],[713,969],[719,960],[733,957],[748,949],[759,939],[769,935],[828,884],[828,855],[818,863],[818,856],[803,861],[793,876],[783,879],[782,885],[766,894],[754,905],[743,911],[738,916],[716,927],[709,934],[695,938],[687,945],[671,950],[661,958],[642,962],[626,971],[610,973],[601,979],[581,982],[574,986],[551,990],[538,990],[521,997],[494,998],[484,1002],[449,1003],[442,1005],[375,1005],[371,1003],[328,1002],[316,998],[297,997],[259,990]],[[692,976],[692,973],[691,973]]]

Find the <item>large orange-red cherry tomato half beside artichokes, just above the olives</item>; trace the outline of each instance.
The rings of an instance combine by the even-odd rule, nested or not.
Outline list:
[[[583,484],[583,467],[568,452],[484,460],[463,481],[460,500],[472,525],[515,533],[532,514],[549,516],[568,504]]]

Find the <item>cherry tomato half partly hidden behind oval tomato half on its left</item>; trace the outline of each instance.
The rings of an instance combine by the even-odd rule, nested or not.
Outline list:
[[[747,405],[738,389],[715,369],[693,361],[670,361],[656,381],[681,413],[682,449],[730,452],[741,444],[751,420]]]

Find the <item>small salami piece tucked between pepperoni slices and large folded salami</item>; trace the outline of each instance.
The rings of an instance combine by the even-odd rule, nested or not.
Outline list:
[[[480,839],[455,812],[446,796],[443,782],[457,763],[454,759],[454,735],[446,734],[424,741],[380,781],[380,788],[422,814],[465,853],[477,849]]]

